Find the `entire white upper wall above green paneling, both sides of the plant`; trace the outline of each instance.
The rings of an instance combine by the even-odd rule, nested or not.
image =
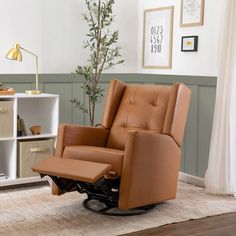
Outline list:
[[[205,0],[204,25],[181,28],[181,0],[117,0],[114,29],[120,33],[125,65],[108,72],[176,75],[217,75],[217,44],[222,0]],[[174,6],[171,70],[142,68],[144,9]],[[14,44],[38,54],[40,73],[71,73],[86,64],[85,0],[7,0],[0,7],[0,73],[35,73],[35,61],[23,52],[23,62],[5,59]],[[181,36],[198,35],[198,52],[181,52]]]

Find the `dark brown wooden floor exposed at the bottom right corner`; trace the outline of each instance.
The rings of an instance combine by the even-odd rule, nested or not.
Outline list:
[[[236,236],[236,213],[190,220],[126,234],[129,236]]]

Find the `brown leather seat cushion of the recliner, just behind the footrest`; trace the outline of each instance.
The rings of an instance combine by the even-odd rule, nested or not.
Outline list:
[[[124,151],[92,146],[67,146],[63,158],[93,161],[112,165],[112,171],[121,175]]]

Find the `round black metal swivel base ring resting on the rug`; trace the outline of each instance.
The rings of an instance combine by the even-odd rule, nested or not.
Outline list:
[[[98,213],[101,215],[109,215],[109,216],[134,216],[134,215],[142,215],[150,212],[155,207],[155,204],[137,207],[129,210],[120,210],[117,207],[109,206],[105,202],[101,202],[96,199],[87,198],[83,202],[83,206],[85,209],[92,211],[94,213]]]

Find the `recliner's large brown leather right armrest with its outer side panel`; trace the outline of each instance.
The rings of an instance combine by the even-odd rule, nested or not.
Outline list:
[[[180,156],[179,146],[168,135],[130,132],[123,159],[119,208],[175,198]]]

